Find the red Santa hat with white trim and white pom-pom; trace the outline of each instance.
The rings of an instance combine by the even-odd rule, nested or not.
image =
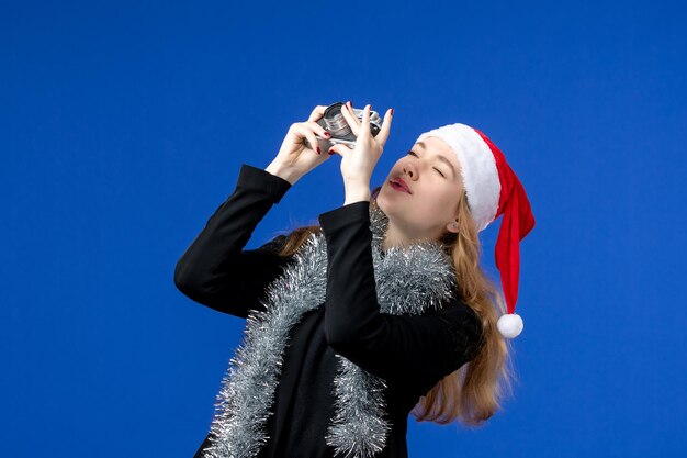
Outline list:
[[[461,123],[449,124],[420,134],[416,143],[429,136],[441,138],[458,156],[470,213],[477,231],[504,215],[495,259],[508,313],[498,319],[497,327],[504,337],[517,337],[523,327],[522,319],[515,313],[520,241],[534,227],[525,188],[500,149],[478,130]]]

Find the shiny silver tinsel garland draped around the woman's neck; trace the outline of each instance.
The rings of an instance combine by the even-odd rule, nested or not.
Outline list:
[[[419,314],[453,297],[455,273],[438,242],[421,242],[382,253],[386,215],[370,205],[372,258],[380,310]],[[251,458],[269,439],[266,424],[280,381],[284,349],[301,316],[325,302],[327,246],[312,234],[282,275],[268,288],[266,311],[252,310],[244,340],[229,360],[211,425],[207,458]],[[385,418],[386,384],[340,355],[335,377],[335,416],[326,442],[337,455],[370,458],[382,450],[391,429]]]

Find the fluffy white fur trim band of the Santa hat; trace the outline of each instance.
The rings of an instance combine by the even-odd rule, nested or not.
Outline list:
[[[480,134],[465,124],[449,124],[425,132],[416,143],[430,136],[441,138],[458,156],[470,213],[477,231],[486,228],[496,216],[500,197],[494,154]]]

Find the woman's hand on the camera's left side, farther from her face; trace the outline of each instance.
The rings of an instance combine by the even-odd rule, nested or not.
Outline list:
[[[319,120],[327,107],[317,105],[305,122],[291,124],[289,132],[281,144],[277,157],[266,168],[272,175],[277,175],[295,183],[301,177],[329,158],[328,154],[319,150],[317,137],[330,138],[331,135],[319,124]],[[304,141],[307,141],[308,145]]]

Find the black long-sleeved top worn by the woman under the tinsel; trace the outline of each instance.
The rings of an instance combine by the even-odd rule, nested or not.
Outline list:
[[[241,165],[236,189],[177,262],[177,288],[195,302],[244,319],[250,309],[263,309],[267,287],[290,259],[277,255],[285,236],[257,249],[243,248],[290,187],[266,170]],[[267,424],[270,439],[259,457],[335,456],[325,435],[334,415],[337,353],[385,379],[392,431],[379,456],[407,457],[410,410],[478,351],[480,320],[460,299],[423,315],[380,312],[369,204],[350,203],[318,217],[327,244],[327,299],[292,329]],[[195,457],[207,445],[206,437]]]

